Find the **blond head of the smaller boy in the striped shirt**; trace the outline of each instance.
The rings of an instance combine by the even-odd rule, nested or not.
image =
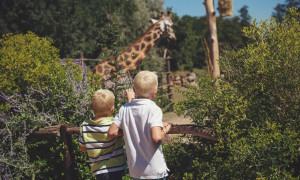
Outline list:
[[[91,108],[97,116],[111,115],[111,108],[115,105],[115,95],[107,89],[97,90],[92,96]]]

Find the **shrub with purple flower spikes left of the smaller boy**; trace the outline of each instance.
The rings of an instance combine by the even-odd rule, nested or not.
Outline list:
[[[41,140],[32,137],[32,132],[55,124],[79,126],[82,121],[92,117],[89,104],[94,89],[90,88],[87,79],[83,77],[78,81],[73,73],[69,73],[65,83],[64,86],[47,87],[45,90],[31,88],[26,94],[2,94],[1,97],[12,107],[12,111],[1,113],[0,136],[3,145],[0,151],[3,156],[0,162],[3,178],[43,178],[52,174],[51,177],[56,179],[53,174],[57,178],[63,176],[62,142],[55,138]],[[83,156],[79,150],[75,155],[77,159]],[[77,165],[81,165],[78,162]]]

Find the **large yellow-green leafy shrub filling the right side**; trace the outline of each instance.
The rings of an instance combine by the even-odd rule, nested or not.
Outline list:
[[[181,92],[177,112],[219,137],[199,140],[206,158],[194,158],[186,179],[299,179],[299,16],[290,9],[282,23],[254,21],[244,29],[252,43],[220,59],[218,87],[202,77]]]

